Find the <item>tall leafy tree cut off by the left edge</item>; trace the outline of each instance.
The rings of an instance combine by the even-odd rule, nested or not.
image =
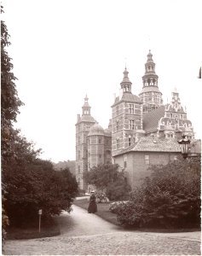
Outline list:
[[[1,14],[3,13],[3,6],[1,5]],[[1,160],[2,172],[6,172],[6,164],[9,163],[10,157],[13,154],[12,143],[15,139],[15,131],[13,129],[13,122],[16,121],[19,107],[23,104],[17,94],[15,88],[14,73],[11,72],[13,64],[11,58],[6,50],[9,46],[9,32],[4,21],[1,20]],[[9,219],[4,209],[4,202],[6,194],[5,181],[2,183],[2,201],[3,201],[3,237],[5,236],[6,225],[9,224]]]

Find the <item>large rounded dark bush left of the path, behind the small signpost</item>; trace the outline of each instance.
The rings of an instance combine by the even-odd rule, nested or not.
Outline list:
[[[43,218],[71,211],[78,183],[68,169],[55,172],[47,160],[35,159],[25,166],[16,165],[5,175],[7,201],[5,207],[11,224],[23,224],[38,218],[38,210],[43,210]]]

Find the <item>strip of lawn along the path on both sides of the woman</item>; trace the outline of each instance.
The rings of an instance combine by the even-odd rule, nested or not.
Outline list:
[[[86,211],[89,207],[89,202],[87,198],[82,198],[82,199],[78,198],[75,201],[73,201],[73,204],[75,206],[84,208]],[[109,211],[109,204],[110,203],[98,203],[97,212],[95,214],[112,224],[119,225],[117,221],[117,215]]]

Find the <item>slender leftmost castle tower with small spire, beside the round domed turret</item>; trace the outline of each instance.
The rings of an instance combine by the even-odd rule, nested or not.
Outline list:
[[[90,115],[90,107],[88,97],[84,98],[84,105],[82,107],[82,116],[78,114],[76,124],[76,178],[79,189],[87,189],[87,184],[84,183],[84,172],[88,172],[88,146],[87,135],[89,129],[95,124],[95,119]]]

